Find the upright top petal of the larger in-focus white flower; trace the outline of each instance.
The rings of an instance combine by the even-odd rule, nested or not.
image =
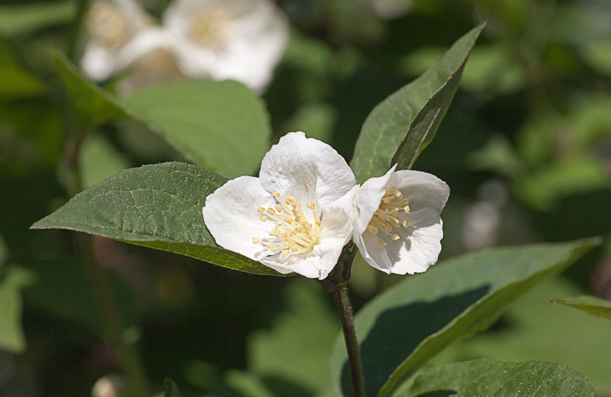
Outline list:
[[[356,184],[334,148],[302,132],[280,138],[263,158],[259,177],[267,191],[293,194],[304,205],[316,203],[320,212]]]

